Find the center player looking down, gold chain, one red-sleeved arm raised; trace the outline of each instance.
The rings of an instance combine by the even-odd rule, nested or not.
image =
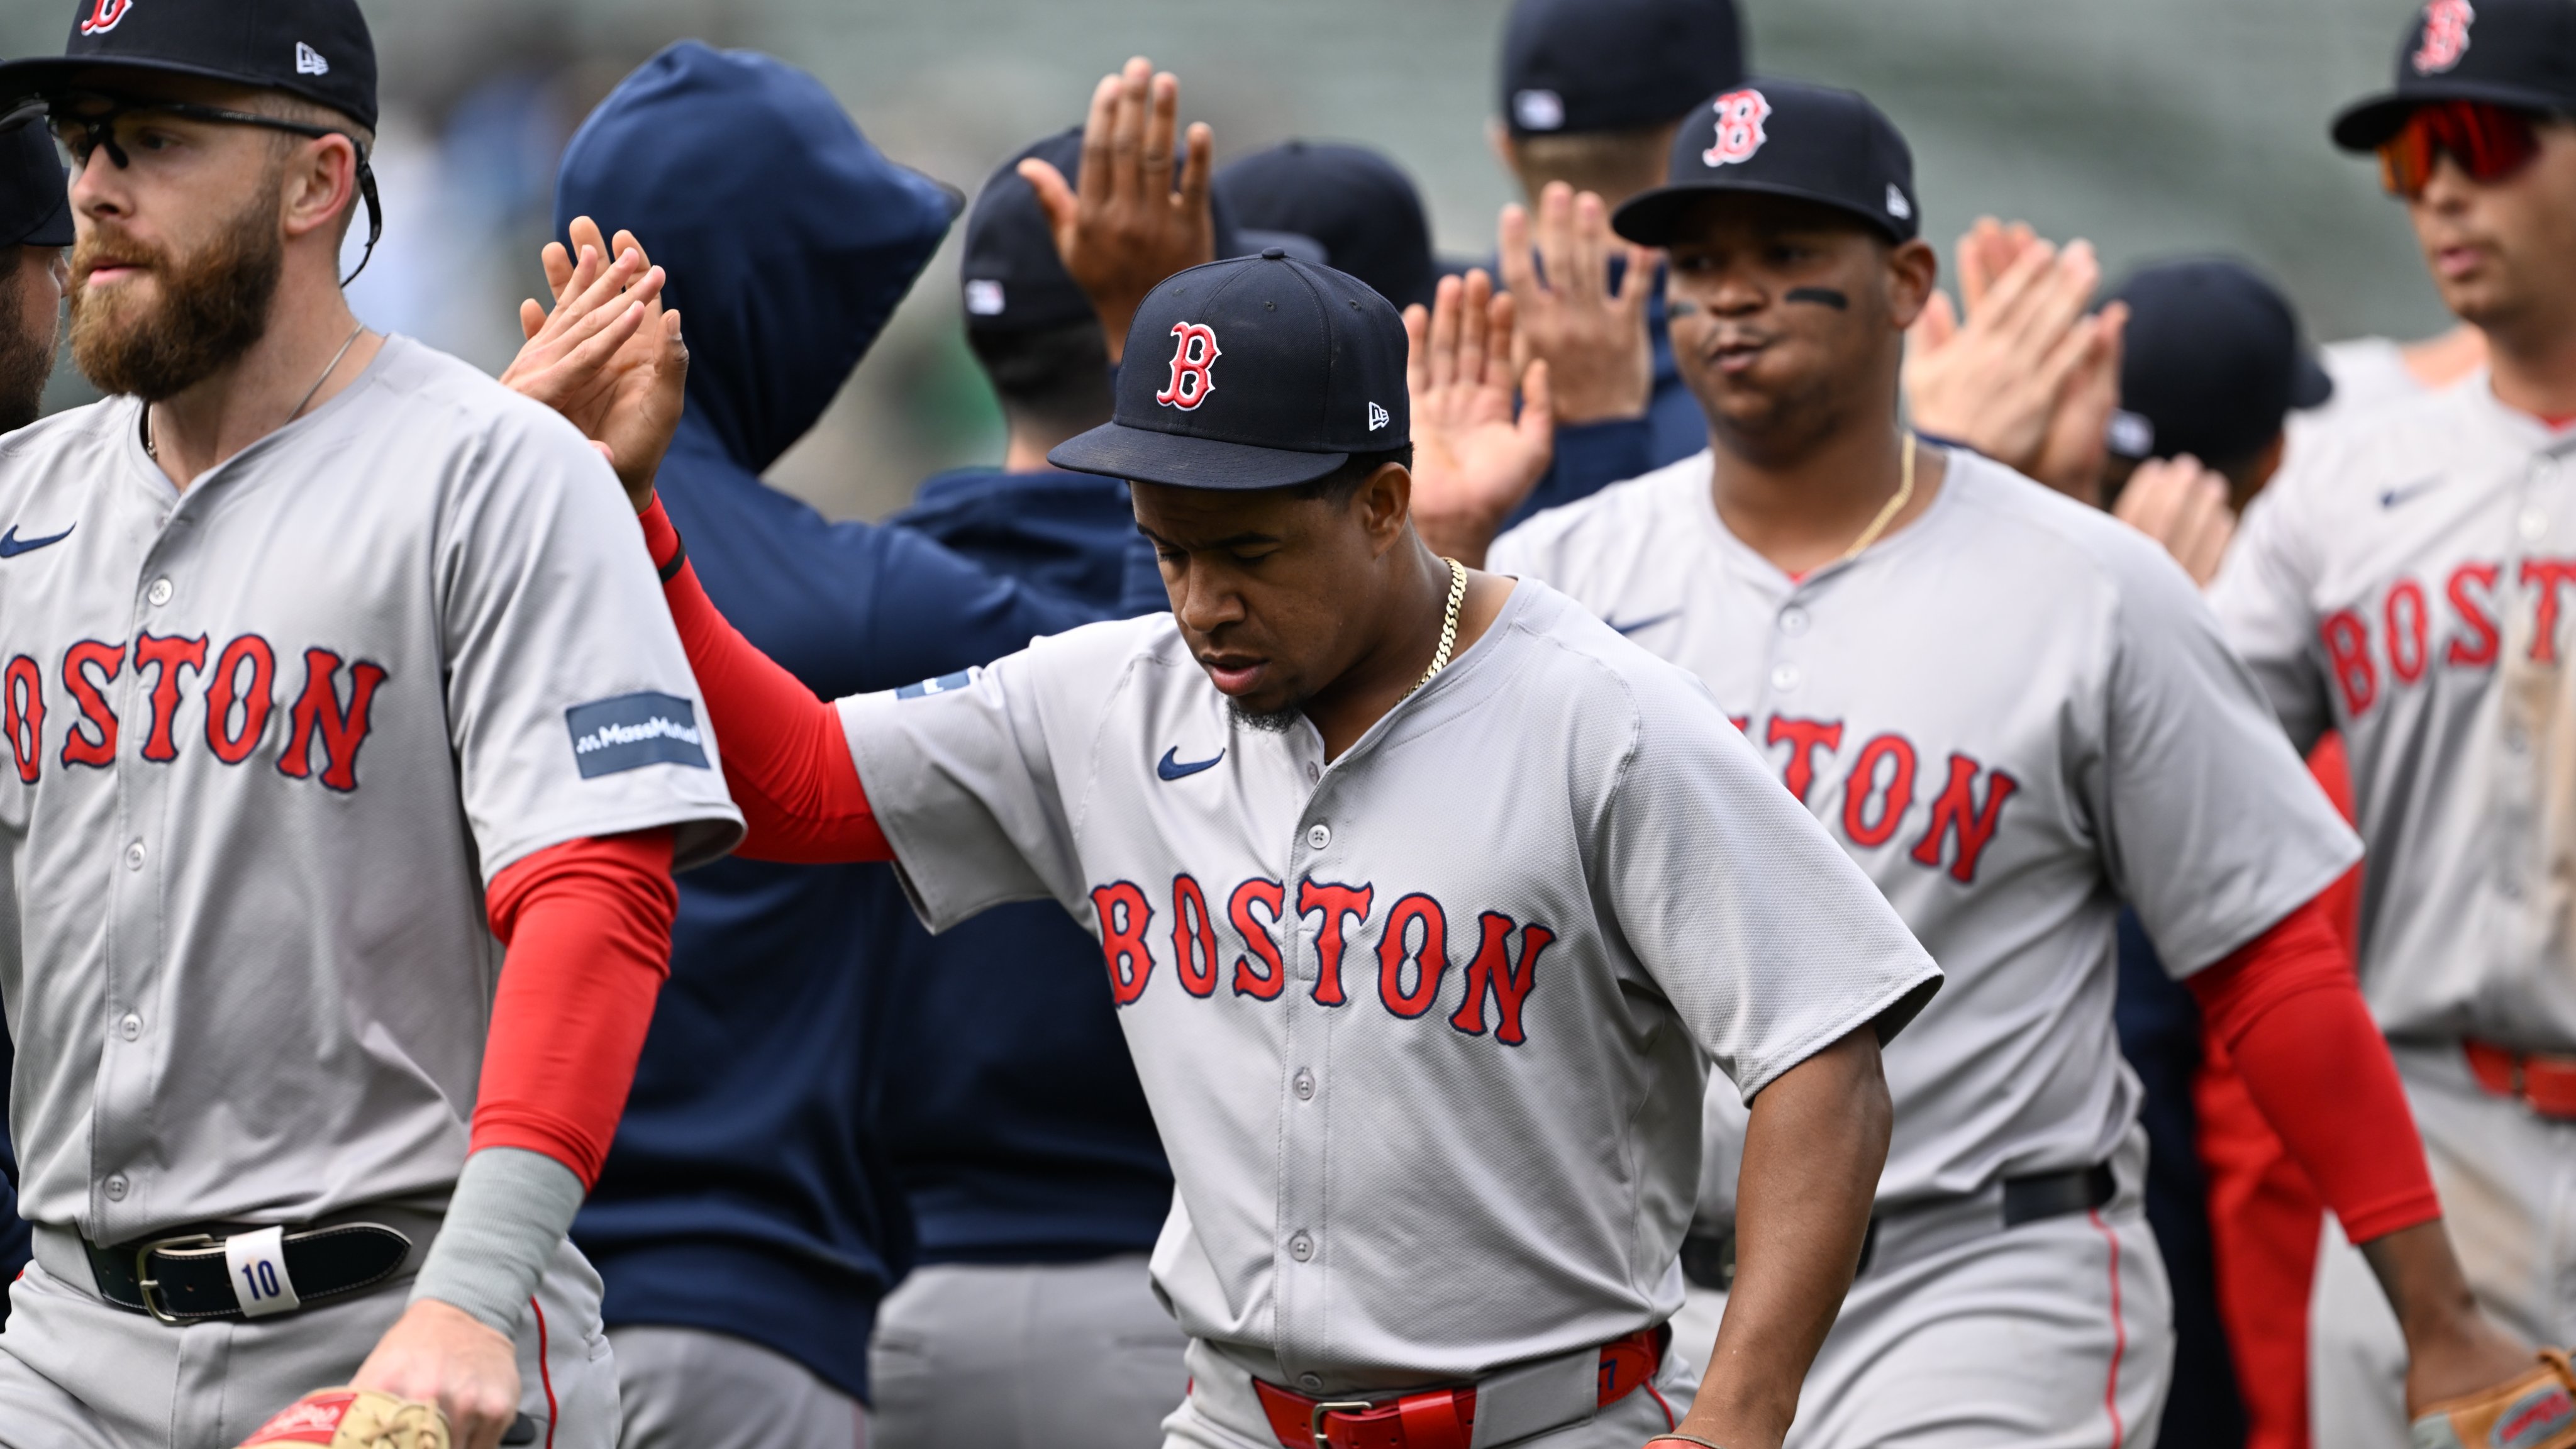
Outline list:
[[[817,704],[657,505],[647,541],[752,853],[891,856],[933,926],[1054,897],[1100,938],[1177,1178],[1167,1441],[1775,1446],[1860,1250],[1878,1042],[1937,972],[1705,691],[1419,544],[1401,338],[1283,250],[1157,286],[1115,420],[1054,462],[1131,480],[1177,608],[984,670]],[[1494,423],[1538,464],[1543,379]],[[1752,1093],[1744,1269],[1677,1410],[1710,1057]]]

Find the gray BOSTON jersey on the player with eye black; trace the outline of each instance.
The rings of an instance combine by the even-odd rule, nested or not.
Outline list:
[[[2354,856],[2172,559],[1947,459],[1911,526],[1806,578],[1726,531],[1708,454],[1492,557],[1708,681],[1940,962],[1886,1057],[1888,1204],[2110,1158],[2138,1106],[2110,1011],[2123,900],[2190,975]]]

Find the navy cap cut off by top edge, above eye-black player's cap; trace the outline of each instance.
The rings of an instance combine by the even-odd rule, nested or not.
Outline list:
[[[1739,80],[1734,0],[1517,0],[1502,34],[1515,137],[1654,126]]]

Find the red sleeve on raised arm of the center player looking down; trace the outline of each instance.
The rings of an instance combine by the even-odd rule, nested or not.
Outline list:
[[[724,786],[747,825],[734,853],[793,864],[891,861],[894,846],[858,784],[850,737],[840,732],[840,709],[814,699],[716,611],[659,498],[641,523],[644,547],[667,575],[662,598],[716,727]]]

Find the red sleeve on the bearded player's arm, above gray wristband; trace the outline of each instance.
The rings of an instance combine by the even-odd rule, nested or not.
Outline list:
[[[526,1147],[600,1178],[608,1137],[670,975],[672,833],[567,841],[492,877],[492,933],[510,949],[492,998],[474,1142]]]

